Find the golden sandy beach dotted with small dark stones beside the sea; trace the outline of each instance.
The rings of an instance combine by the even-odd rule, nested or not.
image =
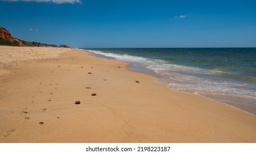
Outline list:
[[[255,115],[127,65],[70,48],[0,46],[0,142],[256,142]]]

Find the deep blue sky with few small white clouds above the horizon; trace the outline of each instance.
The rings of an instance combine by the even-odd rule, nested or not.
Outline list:
[[[256,47],[255,0],[0,0],[0,6],[0,26],[27,41],[77,48]]]

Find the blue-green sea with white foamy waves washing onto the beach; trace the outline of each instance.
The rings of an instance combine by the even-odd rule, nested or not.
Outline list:
[[[176,91],[211,98],[256,114],[256,48],[90,48],[100,57],[152,70]],[[137,68],[137,69],[136,69]]]

